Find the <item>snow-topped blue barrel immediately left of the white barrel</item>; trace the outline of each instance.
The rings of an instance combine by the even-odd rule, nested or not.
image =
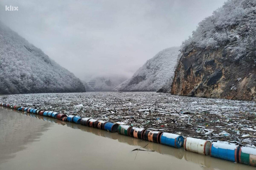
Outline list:
[[[180,148],[184,144],[184,138],[181,135],[170,134],[170,133],[164,132],[160,136],[160,143],[166,144],[166,145],[169,145],[172,147]]]

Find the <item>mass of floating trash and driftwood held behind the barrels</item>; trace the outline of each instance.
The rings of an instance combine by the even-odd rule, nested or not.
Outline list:
[[[0,96],[1,102],[164,129],[185,137],[256,146],[256,103],[155,92],[40,93]]]

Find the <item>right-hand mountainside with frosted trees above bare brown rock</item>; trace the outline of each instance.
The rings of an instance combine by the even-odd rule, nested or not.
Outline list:
[[[181,47],[172,94],[255,100],[255,6],[230,0],[199,23]]]

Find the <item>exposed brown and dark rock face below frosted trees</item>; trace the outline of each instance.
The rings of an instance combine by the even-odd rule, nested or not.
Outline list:
[[[193,48],[182,53],[171,93],[182,96],[255,100],[255,66],[229,57],[224,48]]]

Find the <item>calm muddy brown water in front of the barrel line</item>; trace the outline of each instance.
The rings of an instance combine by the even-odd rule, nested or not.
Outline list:
[[[136,148],[155,152],[132,151]],[[183,148],[0,107],[0,169],[255,168]]]

